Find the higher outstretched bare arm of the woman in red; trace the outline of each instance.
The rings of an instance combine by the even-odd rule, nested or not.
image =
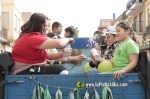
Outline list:
[[[74,42],[73,38],[63,38],[63,39],[49,38],[39,46],[39,49],[61,48],[64,47],[66,44],[73,42]]]

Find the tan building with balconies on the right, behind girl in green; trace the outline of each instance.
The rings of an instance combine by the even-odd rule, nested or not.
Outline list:
[[[150,0],[129,0],[126,6],[126,20],[140,39],[140,46],[150,44]]]

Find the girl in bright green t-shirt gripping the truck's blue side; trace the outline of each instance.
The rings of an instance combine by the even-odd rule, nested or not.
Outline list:
[[[110,72],[113,72],[114,78],[119,79],[123,73],[131,72],[137,66],[139,46],[136,43],[137,36],[126,21],[121,21],[116,25],[116,36],[121,43],[114,52],[114,66]],[[104,60],[100,58],[95,61],[102,62]]]

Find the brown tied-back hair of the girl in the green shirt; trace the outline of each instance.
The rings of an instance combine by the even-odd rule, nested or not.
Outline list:
[[[130,36],[131,36],[131,38],[132,38],[132,40],[134,40],[136,43],[138,43],[138,38],[137,38],[137,36],[136,36],[136,33],[133,31],[133,29],[130,27],[130,25],[129,25],[129,23],[128,22],[126,22],[126,21],[121,21],[121,22],[119,22],[117,25],[116,25],[116,27],[117,26],[120,26],[121,28],[123,28],[124,30],[130,30]]]

